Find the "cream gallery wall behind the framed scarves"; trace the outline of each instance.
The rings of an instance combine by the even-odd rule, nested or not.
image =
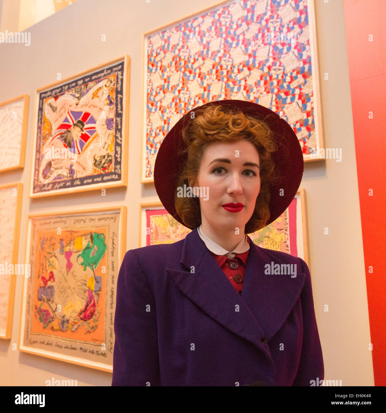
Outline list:
[[[27,214],[74,206],[126,204],[132,217],[126,249],[138,247],[138,204],[158,200],[153,184],[139,183],[142,34],[217,3],[81,0],[29,28],[29,47],[0,44],[0,102],[30,95],[25,168],[0,175],[0,184],[24,184],[19,262],[24,262]],[[328,81],[321,81],[325,145],[342,148],[341,162],[305,164],[301,183],[307,193],[310,270],[325,379],[374,385],[343,1],[316,0],[316,21],[320,72],[329,74]],[[65,78],[124,53],[131,57],[128,187],[109,190],[104,199],[97,192],[29,199],[36,88],[56,81],[58,72]],[[21,282],[17,280],[12,339],[0,339],[0,385],[44,386],[51,377],[78,380],[78,385],[111,385],[110,373],[12,351],[19,335]]]

